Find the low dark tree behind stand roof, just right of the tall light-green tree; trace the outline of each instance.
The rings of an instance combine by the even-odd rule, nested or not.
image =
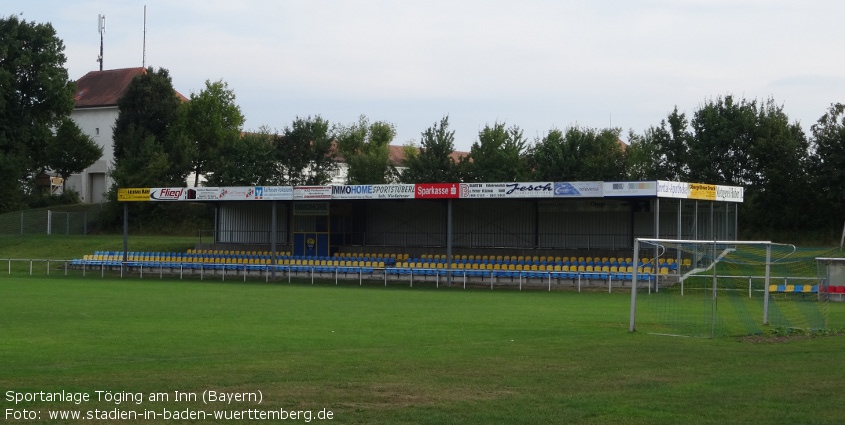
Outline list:
[[[223,141],[218,155],[210,158],[206,175],[209,186],[267,186],[278,184],[275,138],[267,127]]]

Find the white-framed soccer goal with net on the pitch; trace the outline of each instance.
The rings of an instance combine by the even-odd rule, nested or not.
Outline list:
[[[769,241],[637,239],[630,330],[713,338],[825,329],[817,254]]]

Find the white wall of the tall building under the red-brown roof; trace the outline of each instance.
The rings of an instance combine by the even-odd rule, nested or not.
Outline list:
[[[67,187],[77,191],[82,202],[104,202],[104,193],[113,183],[109,176],[109,169],[114,161],[112,139],[118,112],[117,106],[112,106],[75,109],[70,114],[70,117],[82,132],[90,136],[94,143],[103,148],[102,158],[82,173],[73,174],[68,178]]]

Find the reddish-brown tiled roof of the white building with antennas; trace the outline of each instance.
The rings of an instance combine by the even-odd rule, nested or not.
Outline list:
[[[91,71],[76,81],[76,107],[117,106],[118,99],[126,92],[132,79],[146,72],[141,67]],[[178,91],[176,96],[183,102],[188,100]]]

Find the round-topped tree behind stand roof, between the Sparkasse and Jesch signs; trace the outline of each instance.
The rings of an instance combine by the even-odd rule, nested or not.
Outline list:
[[[504,123],[486,125],[478,133],[469,155],[461,158],[464,181],[512,182],[523,181],[528,175],[527,141],[517,126],[505,128]]]

